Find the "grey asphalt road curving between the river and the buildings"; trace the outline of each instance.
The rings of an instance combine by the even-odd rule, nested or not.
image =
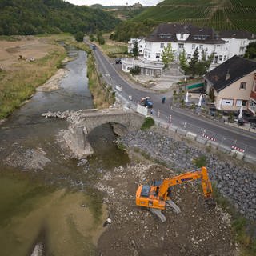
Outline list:
[[[201,118],[198,115],[189,114],[184,110],[171,109],[171,96],[168,95],[168,93],[164,95],[166,96],[166,103],[162,104],[163,94],[153,91],[145,91],[144,88],[138,90],[138,86],[131,85],[118,74],[116,69],[120,64],[110,63],[98,48],[93,50],[93,52],[98,64],[98,70],[102,73],[106,82],[112,85],[114,89],[116,86],[122,87],[122,91],[119,91],[118,93],[122,94],[127,100],[129,95],[132,96],[132,101],[134,103],[138,102],[142,97],[150,96],[154,104],[154,114],[159,114],[159,117],[162,120],[168,122],[171,115],[171,123],[175,126],[183,127],[196,134],[204,134],[216,142],[222,142],[222,144],[225,144],[226,146],[237,146],[241,150],[245,150],[246,154],[256,155],[255,133],[227,126],[208,118]]]

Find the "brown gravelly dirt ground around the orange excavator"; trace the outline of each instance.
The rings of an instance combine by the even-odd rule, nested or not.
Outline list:
[[[100,255],[236,255],[229,215],[206,205],[197,182],[174,186],[172,199],[181,213],[164,210],[166,222],[135,205],[139,184],[170,175],[163,166],[132,163],[104,174],[97,186],[111,223],[99,238]]]

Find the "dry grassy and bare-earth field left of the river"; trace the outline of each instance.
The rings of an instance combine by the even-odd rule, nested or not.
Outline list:
[[[13,38],[3,39],[0,44],[4,43],[9,52],[6,60],[1,58],[0,62],[3,66],[0,71],[0,119],[6,118],[21,106],[34,94],[36,87],[46,82],[61,66],[66,50],[57,41],[72,40],[68,34],[26,40],[21,38],[17,42]],[[8,40],[14,45],[8,47]],[[27,58],[18,58],[23,54],[33,54],[35,60],[30,62]]]

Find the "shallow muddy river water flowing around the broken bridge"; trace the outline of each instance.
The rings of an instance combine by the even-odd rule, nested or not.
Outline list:
[[[108,124],[90,133],[94,155],[70,158],[59,142],[66,121],[42,118],[47,110],[92,108],[86,53],[69,50],[73,61],[60,88],[38,92],[0,126],[1,255],[93,255],[106,207],[94,184],[102,172],[126,165]],[[105,208],[104,208],[105,207]]]

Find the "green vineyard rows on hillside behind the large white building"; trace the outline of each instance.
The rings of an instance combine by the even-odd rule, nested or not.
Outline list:
[[[256,33],[254,0],[166,0],[148,8],[134,21],[182,22],[215,30],[248,30]]]

